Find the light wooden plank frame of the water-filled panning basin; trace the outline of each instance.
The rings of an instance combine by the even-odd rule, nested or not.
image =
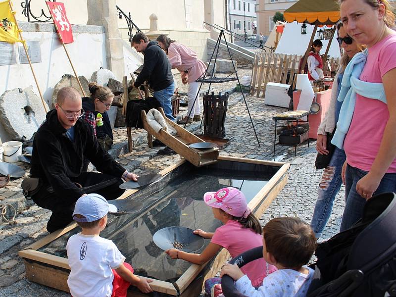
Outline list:
[[[253,163],[279,167],[279,170],[275,173],[275,175],[248,203],[248,206],[250,207],[250,209],[252,209],[253,213],[257,217],[260,217],[264,213],[264,211],[268,208],[271,202],[276,198],[276,196],[287,183],[288,171],[290,167],[290,164],[288,163],[227,156],[219,156],[218,159],[225,161]],[[178,166],[184,164],[185,162],[186,159],[182,159],[177,163],[160,171],[159,173],[161,175],[165,175],[176,169]],[[118,199],[127,198],[137,191],[138,190],[127,190]],[[63,257],[50,255],[38,251],[37,249],[49,244],[53,240],[69,232],[75,227],[77,227],[77,224],[75,222],[70,223],[64,229],[53,232],[45,238],[40,239],[39,241],[33,243],[28,247],[25,247],[23,250],[20,250],[18,252],[19,256],[24,259],[26,277],[30,281],[68,292],[67,276],[70,270],[68,260]],[[227,250],[222,249],[213,261],[205,263],[203,265],[192,264],[176,281],[175,285],[170,282],[153,280],[153,282],[150,283],[150,286],[154,291],[163,293],[168,296],[194,296],[193,293],[197,293],[198,291],[200,293],[200,289],[202,288],[201,286],[204,279],[213,277],[221,269],[222,265],[225,263],[228,257],[229,254]],[[202,275],[204,277],[197,278],[198,275]],[[133,295],[130,295],[130,293],[128,293],[128,296],[146,295],[140,292],[133,292]]]

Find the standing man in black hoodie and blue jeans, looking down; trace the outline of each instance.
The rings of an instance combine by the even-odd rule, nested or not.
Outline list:
[[[156,41],[149,42],[147,36],[142,32],[134,35],[132,46],[137,52],[144,52],[145,55],[143,69],[136,78],[134,86],[139,88],[148,80],[148,84],[154,90],[154,97],[163,107],[166,117],[174,121],[171,98],[175,84],[171,73],[172,66],[165,51],[159,47]]]

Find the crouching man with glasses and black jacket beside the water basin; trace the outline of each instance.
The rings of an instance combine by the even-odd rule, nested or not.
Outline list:
[[[31,198],[52,211],[49,232],[73,220],[74,204],[81,196],[98,193],[112,200],[124,192],[118,188],[122,179],[136,181],[135,174],[99,146],[92,128],[80,119],[84,113],[81,104],[76,89],[60,89],[55,109],[47,113],[33,142],[30,177],[40,179],[40,188]],[[84,156],[102,173],[82,172]]]

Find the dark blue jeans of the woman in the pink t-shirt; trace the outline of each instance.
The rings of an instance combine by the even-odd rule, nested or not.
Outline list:
[[[345,172],[346,202],[343,219],[341,221],[340,232],[349,229],[363,215],[363,208],[366,204],[366,199],[361,197],[356,192],[356,184],[367,173],[367,171],[363,171],[347,165],[347,170]],[[374,192],[373,196],[387,192],[396,192],[396,173],[386,173],[382,178],[378,189]]]

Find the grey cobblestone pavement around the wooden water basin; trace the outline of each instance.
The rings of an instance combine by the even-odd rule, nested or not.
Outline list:
[[[230,96],[230,101],[236,102],[236,99],[240,99],[240,97],[240,93],[234,93]],[[263,103],[262,98],[256,97],[247,97],[247,104],[261,146],[257,145],[245,102],[240,101],[229,108],[227,112],[226,138],[231,140],[231,144],[222,150],[221,154],[291,163],[288,183],[260,218],[260,221],[264,225],[274,217],[298,216],[309,223],[322,174],[322,170],[317,171],[314,168],[315,142],[312,141],[309,148],[307,145],[298,147],[297,156],[294,156],[294,148],[277,147],[274,158],[274,122],[271,118],[274,114],[286,111],[286,109],[267,106]],[[198,123],[192,125],[198,126]],[[125,129],[116,129],[114,134],[117,142],[126,140]],[[135,138],[137,135],[145,135],[145,132],[143,130],[134,131]],[[141,143],[142,145],[135,147],[133,152],[117,158],[126,168],[134,170],[138,174],[157,172],[181,158],[179,155],[157,155],[159,148],[148,148],[144,140]],[[18,165],[24,166],[26,170],[29,169],[22,163],[18,163]],[[45,231],[45,226],[50,212],[33,205],[28,200],[21,200],[19,185],[21,180],[14,180],[6,188],[0,190],[1,203],[17,201],[16,206],[23,210],[18,214],[16,224],[8,225],[1,222],[0,225],[0,297],[70,296],[64,292],[31,283],[25,277],[24,264],[18,257],[17,251],[48,234]],[[344,209],[344,188],[340,193],[336,198],[330,221],[323,232],[324,239],[328,239],[338,232]],[[17,197],[19,198],[17,199]]]

